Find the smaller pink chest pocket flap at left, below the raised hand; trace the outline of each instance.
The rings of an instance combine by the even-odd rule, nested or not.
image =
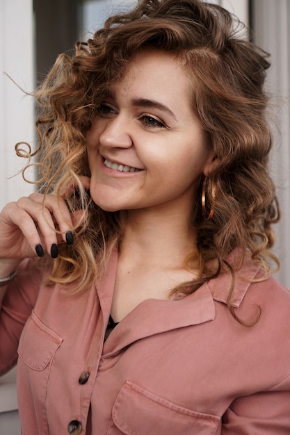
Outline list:
[[[45,370],[62,341],[33,311],[20,337],[18,354],[33,370]]]

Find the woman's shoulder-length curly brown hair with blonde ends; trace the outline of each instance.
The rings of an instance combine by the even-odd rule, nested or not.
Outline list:
[[[190,268],[198,256],[199,279],[182,283],[172,294],[191,293],[225,268],[234,278],[246,253],[264,270],[263,279],[273,260],[279,265],[270,250],[271,225],[279,219],[268,174],[271,133],[263,90],[270,64],[268,54],[245,40],[239,26],[227,10],[200,0],[142,0],[108,18],[88,42],[76,43],[74,54],[58,57],[36,91],[38,183],[45,194],[54,190],[56,195],[78,186],[65,199],[72,213],[84,208],[87,219],[76,229],[73,247],[61,247],[52,281],[73,282],[75,291],[88,287],[120,243],[118,212],[103,211],[82,188],[81,176],[90,176],[86,133],[111,83],[120,81],[130,60],[148,48],[175,56],[191,77],[191,105],[216,155],[206,183],[200,180],[191,215],[197,247],[186,264]],[[210,219],[202,213],[204,184],[214,209]],[[234,249],[239,254],[229,264]],[[234,279],[229,306],[233,288]]]

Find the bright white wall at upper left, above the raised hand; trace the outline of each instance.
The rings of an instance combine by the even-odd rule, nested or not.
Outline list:
[[[8,74],[24,90],[33,90],[32,0],[0,1],[0,208],[31,192],[15,175],[24,159],[15,156],[15,143],[33,141],[33,101],[24,97]]]

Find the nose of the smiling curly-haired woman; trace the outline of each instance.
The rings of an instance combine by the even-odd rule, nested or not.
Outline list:
[[[99,143],[103,147],[129,148],[133,140],[129,131],[129,120],[120,114],[107,120],[104,130],[99,136]]]

